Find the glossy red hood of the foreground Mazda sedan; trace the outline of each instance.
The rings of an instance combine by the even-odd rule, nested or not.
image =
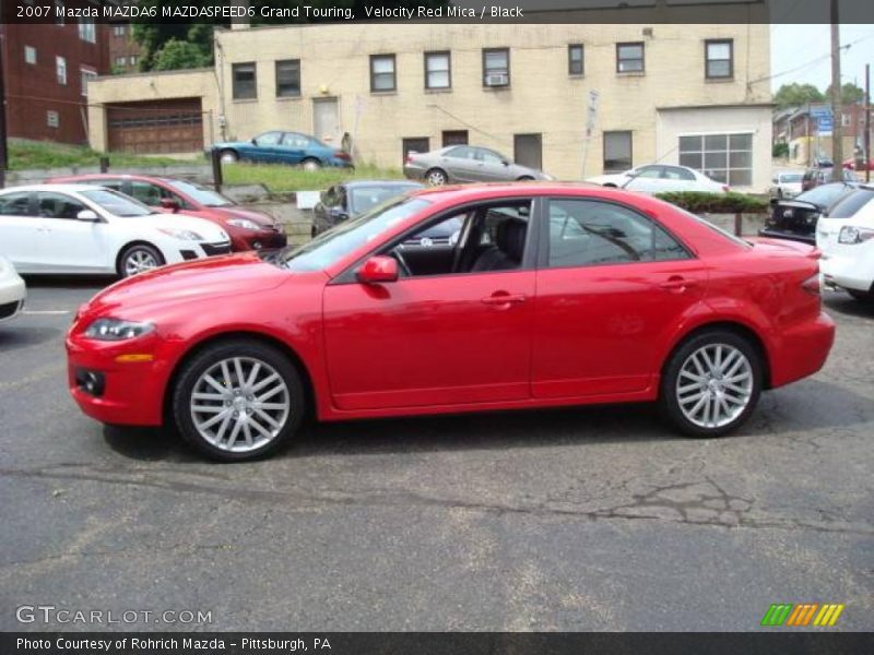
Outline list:
[[[287,281],[288,275],[253,252],[208,258],[162,266],[117,282],[82,306],[80,313],[108,315],[123,308],[119,313],[126,313],[126,318],[143,319],[150,310],[192,298],[268,291]]]

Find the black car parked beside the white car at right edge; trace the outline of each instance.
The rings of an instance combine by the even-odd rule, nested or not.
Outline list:
[[[815,187],[794,199],[771,200],[771,215],[759,230],[760,237],[816,242],[816,222],[829,207],[852,193],[855,182],[831,182]]]

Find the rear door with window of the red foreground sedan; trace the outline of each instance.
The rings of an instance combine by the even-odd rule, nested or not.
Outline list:
[[[538,271],[534,397],[645,392],[705,266],[652,219],[609,202],[552,200]]]

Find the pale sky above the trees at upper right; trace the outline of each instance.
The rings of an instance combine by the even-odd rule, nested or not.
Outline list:
[[[852,44],[841,51],[842,83],[854,82],[864,88],[865,64],[874,69],[874,24],[841,25],[840,40],[841,45]],[[771,25],[771,88],[799,82],[825,91],[831,84],[830,52],[829,25]],[[799,70],[780,74],[793,69]],[[874,70],[871,75],[874,78]]]

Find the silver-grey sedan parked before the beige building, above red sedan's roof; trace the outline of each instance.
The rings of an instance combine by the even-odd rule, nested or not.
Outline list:
[[[410,153],[404,160],[403,174],[414,180],[425,180],[433,187],[452,182],[553,179],[542,170],[513,164],[509,157],[477,145],[449,145],[429,153]]]

